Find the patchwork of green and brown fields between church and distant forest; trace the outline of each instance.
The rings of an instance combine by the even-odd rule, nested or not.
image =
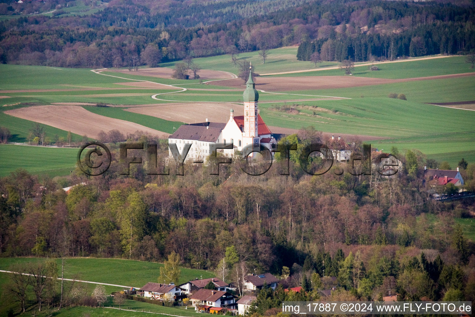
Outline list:
[[[271,50],[264,65],[259,63],[257,52],[243,53],[239,58],[251,60],[260,73],[312,68],[310,62],[296,61],[295,53],[296,48]],[[35,118],[46,124],[48,135],[65,137],[66,128],[71,130],[75,126],[67,123],[74,121],[72,109],[81,107],[85,119],[95,115],[107,118],[101,122],[109,125],[97,127],[99,130],[114,126],[124,129],[119,123],[128,121],[134,127],[143,127],[138,130],[152,129],[166,136],[182,122],[200,122],[207,117],[226,122],[229,108],[236,113],[242,111],[242,80],[219,80],[220,76],[230,76],[224,72],[237,72],[230,57],[195,58],[194,62],[206,69],[207,77],[217,80],[202,85],[199,82],[203,80],[171,79],[171,68],[161,67],[139,68],[138,72],[105,70],[99,75],[89,69],[0,65],[0,71],[9,73],[11,78],[0,79],[0,96],[4,96],[0,100],[6,105],[20,103],[1,109],[0,125],[10,129],[15,142],[26,141],[33,124],[29,120]],[[335,65],[321,63],[319,68]],[[261,90],[260,114],[267,125],[275,131],[279,128],[279,132],[292,133],[313,125],[324,133],[380,138],[371,141],[379,149],[419,149],[429,158],[447,160],[454,166],[462,157],[475,161],[475,131],[471,129],[475,113],[428,105],[475,100],[474,76],[469,74],[472,70],[463,57],[382,63],[378,67],[378,71],[369,71],[368,66],[356,67],[353,77],[342,76],[341,69],[256,77],[256,88]],[[404,94],[408,100],[389,98],[391,93]],[[114,107],[92,106],[100,102]],[[70,115],[64,116],[67,120],[63,118],[66,121],[62,124],[55,122],[54,115],[38,111],[43,108],[30,109],[40,105],[47,106],[44,110],[52,114]],[[294,107],[297,113],[283,110],[284,105]],[[25,106],[28,108],[21,110]],[[72,106],[76,108],[68,109]],[[32,112],[35,114],[31,115]],[[76,139],[86,134],[84,128],[72,132]],[[95,136],[90,129],[87,134]]]

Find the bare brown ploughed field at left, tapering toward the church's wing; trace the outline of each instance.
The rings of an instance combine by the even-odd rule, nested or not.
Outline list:
[[[123,134],[134,133],[138,130],[159,137],[170,135],[133,122],[97,115],[81,106],[31,106],[8,110],[5,113],[93,138],[97,138],[101,130],[108,132],[114,129]]]

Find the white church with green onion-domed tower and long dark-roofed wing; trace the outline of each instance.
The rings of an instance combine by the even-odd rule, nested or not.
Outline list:
[[[169,144],[176,144],[180,154],[184,144],[191,144],[186,159],[204,160],[209,156],[209,145],[214,143],[233,144],[233,150],[218,150],[226,156],[233,156],[236,151],[248,145],[259,147],[260,144],[269,150],[276,148],[276,134],[272,134],[268,126],[259,115],[258,99],[259,93],[249,71],[249,79],[243,93],[244,113],[234,115],[234,110],[230,109],[227,123],[206,122],[190,125],[181,125],[175,133],[168,138]],[[170,151],[170,155],[171,151]]]

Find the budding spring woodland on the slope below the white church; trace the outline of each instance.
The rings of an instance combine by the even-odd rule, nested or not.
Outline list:
[[[287,138],[304,144],[309,134]],[[159,162],[166,145],[158,144]],[[404,168],[391,177],[337,175],[340,164],[311,176],[298,155],[288,176],[274,167],[251,176],[240,160],[221,164],[219,175],[192,163],[184,176],[173,164],[170,175],[148,175],[146,163],[130,164],[123,175],[118,150],[100,176],[76,169],[51,179],[17,170],[0,180],[0,256],[163,262],[176,254],[181,266],[228,280],[235,271],[272,272],[283,287],[307,289],[298,295],[305,298],[338,287],[340,300],[397,292],[408,300],[473,301],[475,244],[457,221],[473,217],[473,198],[429,200],[423,171],[430,160],[418,151],[398,155]],[[475,164],[460,170],[473,187]],[[279,292],[259,293],[257,313],[278,307]]]

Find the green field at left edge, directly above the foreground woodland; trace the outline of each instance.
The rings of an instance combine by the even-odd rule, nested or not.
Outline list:
[[[18,168],[24,168],[33,174],[68,175],[75,168],[77,151],[78,149],[69,148],[2,144],[0,177]]]

